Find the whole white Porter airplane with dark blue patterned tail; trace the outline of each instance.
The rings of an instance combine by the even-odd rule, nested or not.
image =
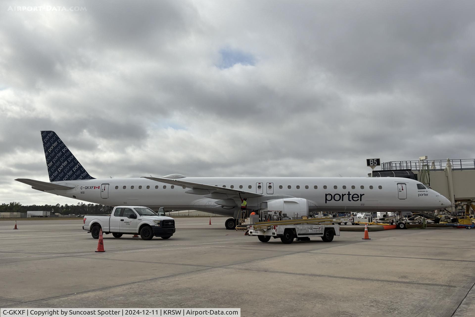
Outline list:
[[[399,177],[91,177],[54,131],[41,131],[50,182],[16,179],[33,189],[109,206],[143,205],[227,215],[233,229],[241,198],[247,209],[312,211],[428,211],[450,201],[422,183]]]

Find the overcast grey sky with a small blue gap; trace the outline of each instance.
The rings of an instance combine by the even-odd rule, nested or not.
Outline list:
[[[475,158],[473,0],[63,3],[0,6],[0,203],[79,202],[14,181],[40,130],[96,178]]]

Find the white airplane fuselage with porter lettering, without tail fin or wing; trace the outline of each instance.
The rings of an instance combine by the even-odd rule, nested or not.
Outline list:
[[[242,189],[264,196],[248,198],[248,209],[259,209],[269,199],[299,197],[309,201],[309,209],[355,211],[422,211],[443,209],[450,201],[432,189],[418,189],[420,182],[399,177],[184,177],[180,180]],[[117,206],[142,205],[166,210],[199,210],[230,215],[237,207],[217,205],[216,199],[185,193],[190,188],[172,186],[147,178],[109,178],[61,181],[75,186],[70,190],[48,193],[86,202]]]

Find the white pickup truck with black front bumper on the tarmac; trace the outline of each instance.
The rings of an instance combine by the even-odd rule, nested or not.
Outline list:
[[[115,238],[140,234],[143,240],[151,240],[153,236],[168,239],[175,233],[175,220],[166,217],[163,208],[157,214],[143,206],[117,206],[110,215],[88,214],[83,224],[83,230],[90,232],[94,239],[99,238],[101,228],[103,233],[112,233]]]

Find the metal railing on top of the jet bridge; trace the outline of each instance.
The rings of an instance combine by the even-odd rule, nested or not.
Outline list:
[[[412,169],[420,170],[420,161],[392,161],[381,163],[382,170]],[[423,164],[429,166],[429,170],[443,170],[446,168],[447,159],[428,159]],[[450,159],[452,170],[475,169],[475,158]]]

